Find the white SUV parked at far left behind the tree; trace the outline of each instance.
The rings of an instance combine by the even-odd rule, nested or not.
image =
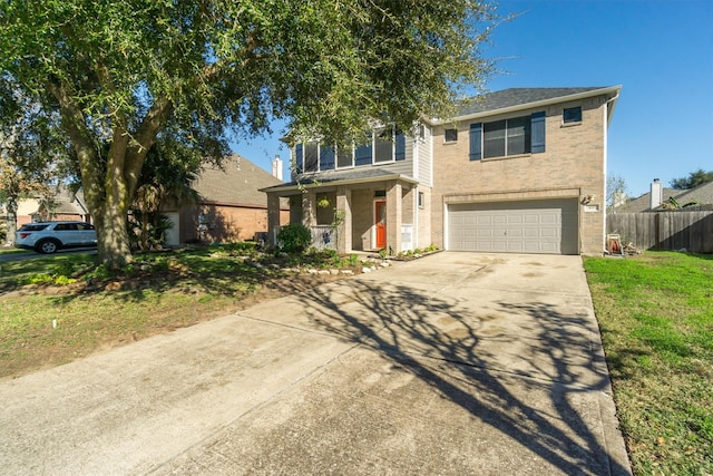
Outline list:
[[[96,246],[97,231],[85,222],[35,222],[22,225],[14,246],[51,254],[62,247]]]

